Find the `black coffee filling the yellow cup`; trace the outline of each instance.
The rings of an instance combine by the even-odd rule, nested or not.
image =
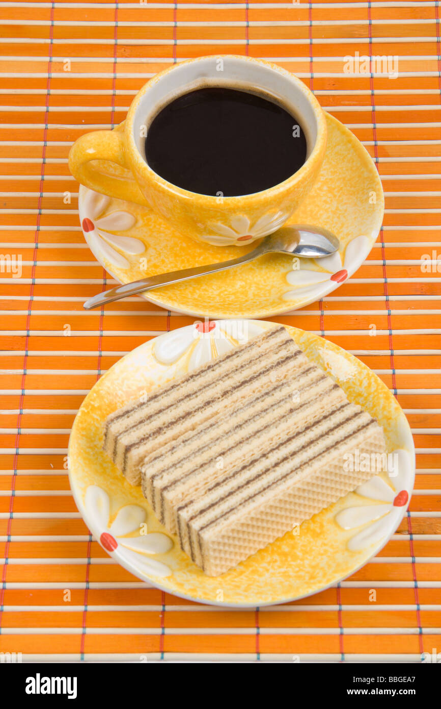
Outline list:
[[[262,95],[210,87],[179,96],[152,121],[146,159],[190,192],[253,194],[302,167],[307,141],[297,118]]]

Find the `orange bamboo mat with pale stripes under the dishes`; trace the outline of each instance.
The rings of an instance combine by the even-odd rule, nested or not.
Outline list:
[[[418,662],[441,647],[441,267],[420,267],[441,254],[440,13],[437,2],[0,4],[1,252],[23,259],[21,278],[0,274],[0,652]],[[174,598],[113,564],[66,470],[72,420],[98,376],[192,321],[136,298],[82,310],[105,273],[79,228],[69,146],[122,121],[160,69],[227,52],[298,74],[377,164],[386,213],[367,262],[335,295],[275,319],[379,374],[408,415],[418,467],[411,511],[376,559],[338,588],[241,611]],[[398,76],[346,73],[356,52],[396,57]]]

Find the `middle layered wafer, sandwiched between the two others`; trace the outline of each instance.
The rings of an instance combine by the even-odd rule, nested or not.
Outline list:
[[[306,359],[306,358],[305,358]],[[142,491],[156,516],[176,531],[175,510],[230,469],[237,461],[259,455],[265,447],[302,427],[305,419],[346,401],[340,387],[306,359],[295,378],[268,382],[236,411],[216,417],[142,464]]]

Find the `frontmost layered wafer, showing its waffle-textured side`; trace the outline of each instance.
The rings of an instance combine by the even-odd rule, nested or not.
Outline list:
[[[337,403],[179,505],[181,547],[207,575],[224,573],[370,479],[377,471],[346,470],[354,450],[384,452],[382,428],[359,406]]]

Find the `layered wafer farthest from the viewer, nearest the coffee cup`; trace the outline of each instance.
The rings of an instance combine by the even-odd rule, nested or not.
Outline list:
[[[307,358],[279,326],[253,337],[222,357],[173,380],[142,401],[115,411],[105,422],[105,452],[134,485],[144,458],[217,415],[294,374]]]

